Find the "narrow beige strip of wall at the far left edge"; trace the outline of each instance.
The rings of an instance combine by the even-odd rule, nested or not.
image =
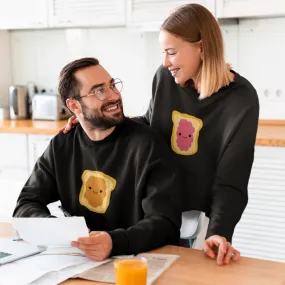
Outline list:
[[[11,84],[10,34],[0,30],[0,107],[8,107],[8,87]]]

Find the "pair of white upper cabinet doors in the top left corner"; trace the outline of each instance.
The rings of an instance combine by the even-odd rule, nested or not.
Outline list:
[[[126,0],[0,0],[0,29],[126,24]]]

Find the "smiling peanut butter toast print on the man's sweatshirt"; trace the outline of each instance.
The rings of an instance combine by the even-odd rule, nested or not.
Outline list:
[[[79,202],[90,211],[104,214],[108,209],[116,180],[100,171],[85,170],[82,174]]]

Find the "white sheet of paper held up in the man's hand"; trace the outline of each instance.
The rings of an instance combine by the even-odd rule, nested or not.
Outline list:
[[[70,246],[89,236],[83,217],[14,218],[13,226],[23,240],[38,246]]]

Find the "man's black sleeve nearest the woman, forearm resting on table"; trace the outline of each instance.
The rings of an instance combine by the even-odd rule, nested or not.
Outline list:
[[[144,219],[128,229],[109,234],[113,241],[112,255],[137,254],[167,244],[178,245],[181,226],[179,181],[172,168],[169,150],[164,142],[138,157],[138,164],[147,161],[140,177]],[[147,151],[147,149],[146,149]],[[137,189],[135,189],[137,191]]]

